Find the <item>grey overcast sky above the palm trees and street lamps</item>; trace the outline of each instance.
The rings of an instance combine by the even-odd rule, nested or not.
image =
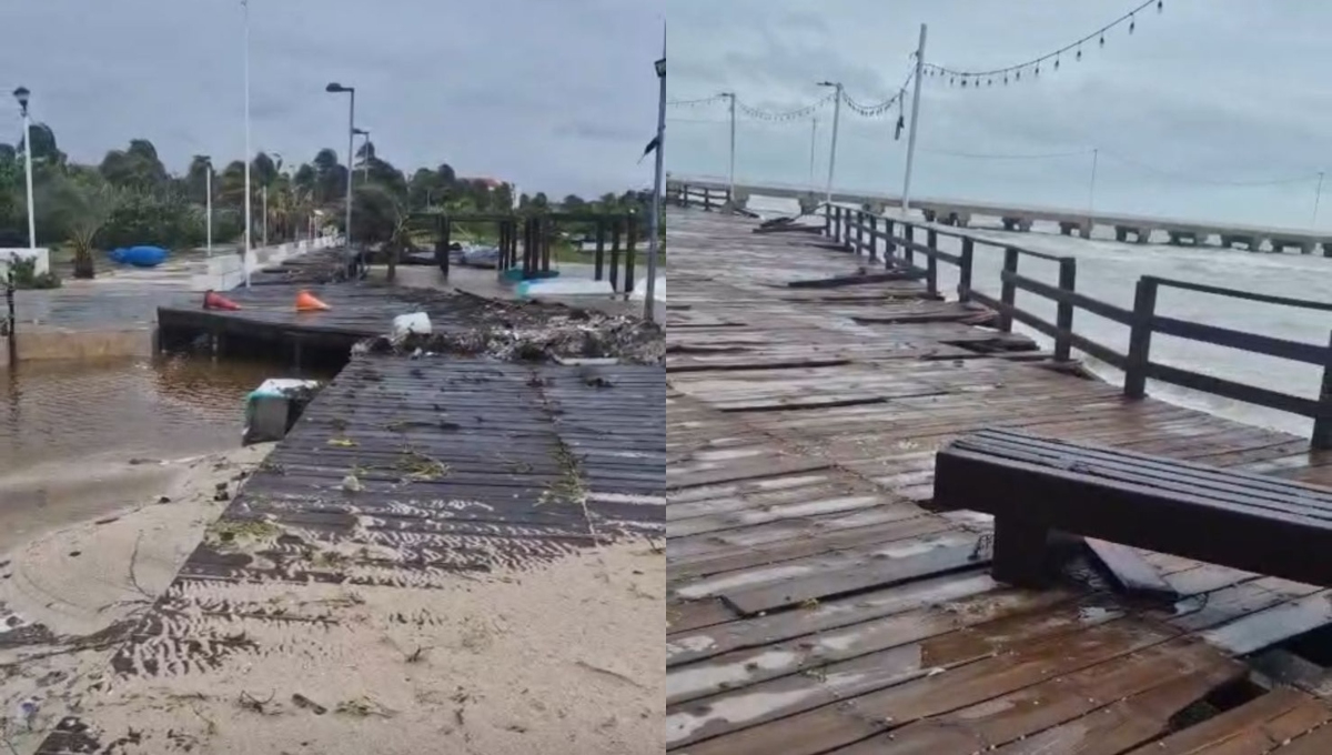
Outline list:
[[[525,192],[645,186],[662,0],[250,0],[253,146],[346,152],[346,96],[380,156]],[[240,0],[0,0],[0,87],[80,161],[131,138],[173,170],[244,150]],[[0,100],[0,141],[17,107]]]

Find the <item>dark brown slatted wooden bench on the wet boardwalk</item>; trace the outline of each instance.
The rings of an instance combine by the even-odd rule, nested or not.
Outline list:
[[[1011,585],[1042,585],[1064,533],[1332,586],[1324,487],[1012,430],[950,443],[934,486],[936,506],[995,517],[994,575]]]

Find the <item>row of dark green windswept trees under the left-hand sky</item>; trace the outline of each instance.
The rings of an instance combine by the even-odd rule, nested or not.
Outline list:
[[[197,248],[206,237],[208,172],[213,169],[213,241],[241,240],[244,232],[245,162],[212,165],[194,156],[184,174],[172,174],[148,140],[136,138],[113,149],[97,165],[72,162],[60,150],[55,132],[32,128],[33,204],[37,244],[67,245],[75,257],[73,274],[92,277],[97,250],[139,244],[168,249]],[[27,194],[24,141],[0,144],[0,246],[25,246]],[[342,229],[348,168],[333,149],[288,165],[281,156],[260,152],[250,162],[252,238],[258,244],[266,228],[269,242],[282,242],[318,232]],[[350,176],[352,232],[364,244],[401,245],[408,218],[429,212],[503,212],[514,206],[513,188],[485,178],[462,178],[448,164],[408,174],[380,157],[366,142],[356,156]],[[266,202],[264,197],[266,194]],[[567,196],[558,208],[543,193],[518,197],[519,212],[566,209],[635,210],[642,197],[605,194],[586,201]],[[266,226],[264,208],[266,206]]]

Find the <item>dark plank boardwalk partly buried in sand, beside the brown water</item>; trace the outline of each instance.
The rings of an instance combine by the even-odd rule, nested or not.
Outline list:
[[[376,751],[385,738],[397,743],[389,751],[465,751],[473,736],[507,738],[513,751],[554,751],[566,735],[555,739],[549,726],[533,724],[522,706],[513,706],[511,722],[485,722],[490,703],[477,690],[493,684],[454,662],[476,663],[470,658],[484,658],[485,643],[498,642],[469,626],[500,634],[509,621],[486,606],[488,590],[511,589],[503,586],[613,543],[641,543],[645,558],[661,558],[653,543],[665,529],[663,405],[661,366],[354,357],[208,527],[166,594],[128,631],[115,630],[128,638],[113,646],[112,687],[137,691],[64,719],[40,752],[120,752],[128,743],[143,752],[241,751],[233,748],[244,742],[234,727],[209,723],[236,710],[252,714],[245,726],[261,732],[249,742],[290,736],[297,722],[308,727],[298,739],[320,752]],[[606,574],[603,591],[649,590],[642,581]],[[621,617],[578,630],[583,606],[570,598],[567,609],[571,621],[542,618],[554,642],[567,644],[525,648],[534,654],[530,663],[565,668],[571,660],[563,656],[574,655],[594,670],[614,668],[622,662],[594,662],[599,632],[661,636],[654,618],[651,626]],[[460,640],[458,627],[473,634]],[[569,636],[567,627],[582,636]],[[342,654],[325,648],[338,642]],[[449,644],[457,642],[465,646]],[[432,650],[440,656],[433,666]],[[397,655],[394,668],[362,668],[385,651]],[[645,647],[647,660],[630,664],[651,666],[651,651]],[[298,667],[280,690],[244,678],[246,667],[293,662]],[[637,708],[610,699],[626,684],[653,680],[614,674],[598,671],[587,687],[605,706],[571,715],[637,722]],[[506,694],[517,699],[529,690]],[[533,706],[563,710],[554,698],[539,699],[549,691],[531,694]],[[115,711],[123,704],[144,711],[128,730]],[[322,718],[298,723],[305,716]],[[496,734],[505,724],[511,728]],[[619,731],[634,726],[626,720]],[[654,736],[626,746],[615,727],[591,728],[577,732],[579,751],[657,746]]]

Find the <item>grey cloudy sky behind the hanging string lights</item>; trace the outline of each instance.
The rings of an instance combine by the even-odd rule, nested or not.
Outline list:
[[[859,101],[880,101],[903,81],[920,23],[926,61],[998,68],[1063,47],[1138,1],[667,0],[669,91],[694,99],[734,89],[750,105],[783,111],[817,100],[814,83],[831,79]],[[1139,15],[1132,36],[1116,29],[1104,48],[1088,45],[1082,61],[1064,57],[1058,72],[1047,64],[1038,80],[960,89],[926,79],[912,190],[1308,226],[1317,173],[1332,168],[1329,28],[1332,3],[1166,0],[1163,12]],[[667,169],[725,174],[725,104],[669,116]],[[822,186],[831,108],[818,117]],[[907,140],[894,141],[895,119],[843,108],[839,186],[902,190]],[[809,120],[742,117],[738,177],[809,182],[810,138]],[[1095,196],[1092,149],[1100,150]],[[1317,225],[1332,228],[1332,201]]]

